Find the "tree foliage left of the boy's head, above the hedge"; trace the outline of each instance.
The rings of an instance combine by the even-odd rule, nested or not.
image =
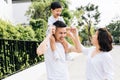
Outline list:
[[[31,6],[26,12],[26,15],[32,19],[44,19],[47,21],[47,18],[50,16],[49,5],[52,0],[35,0],[32,2]]]

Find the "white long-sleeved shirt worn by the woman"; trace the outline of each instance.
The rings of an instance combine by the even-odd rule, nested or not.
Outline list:
[[[113,80],[113,60],[109,52],[100,52],[94,57],[92,52],[95,47],[83,48],[87,55],[87,80]]]

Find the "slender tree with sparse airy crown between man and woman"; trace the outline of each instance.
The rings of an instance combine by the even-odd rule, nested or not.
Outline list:
[[[75,12],[76,18],[78,19],[79,26],[86,26],[88,32],[88,40],[91,42],[91,27],[92,25],[97,25],[100,20],[100,13],[98,11],[98,6],[94,4],[88,4],[87,6],[81,6],[77,8]]]

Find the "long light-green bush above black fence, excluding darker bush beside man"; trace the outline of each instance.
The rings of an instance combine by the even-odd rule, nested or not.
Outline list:
[[[36,40],[31,26],[14,26],[10,22],[0,20],[0,38],[17,40]]]

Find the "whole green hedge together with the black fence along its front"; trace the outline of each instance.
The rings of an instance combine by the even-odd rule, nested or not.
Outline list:
[[[43,19],[31,23],[13,25],[0,19],[0,79],[44,60],[36,48],[45,37],[47,23]]]

